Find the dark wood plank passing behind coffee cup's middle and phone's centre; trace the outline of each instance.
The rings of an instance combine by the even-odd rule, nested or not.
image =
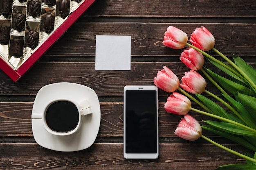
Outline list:
[[[123,103],[101,102],[101,125],[99,137],[123,137]],[[0,137],[33,136],[31,113],[33,102],[0,102]],[[192,106],[201,109],[194,103]],[[213,120],[208,116],[190,112],[200,124],[202,120]],[[164,102],[159,103],[159,137],[175,137],[174,131],[183,116],[167,113]],[[207,136],[216,136],[208,131]]]

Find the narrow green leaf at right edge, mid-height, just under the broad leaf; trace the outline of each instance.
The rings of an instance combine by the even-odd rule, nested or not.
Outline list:
[[[247,109],[245,109],[245,107],[240,102],[236,101],[234,98],[231,98],[228,95],[222,94],[222,96],[224,96],[231,103],[234,109],[236,109],[236,111],[240,113],[240,115],[245,119],[245,123],[249,127],[256,129],[256,121],[254,120],[254,117],[247,111]]]

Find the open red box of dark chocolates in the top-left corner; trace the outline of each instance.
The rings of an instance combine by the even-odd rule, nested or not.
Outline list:
[[[18,81],[95,0],[1,0],[0,68]]]

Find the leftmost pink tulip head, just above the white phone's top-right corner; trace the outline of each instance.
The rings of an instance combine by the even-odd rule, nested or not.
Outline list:
[[[168,93],[174,92],[180,86],[179,78],[166,66],[157,73],[157,76],[154,78],[154,83],[157,87]]]

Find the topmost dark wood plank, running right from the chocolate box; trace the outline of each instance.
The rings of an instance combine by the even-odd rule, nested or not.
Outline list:
[[[251,0],[97,0],[86,12],[90,16],[122,17],[255,17]]]

